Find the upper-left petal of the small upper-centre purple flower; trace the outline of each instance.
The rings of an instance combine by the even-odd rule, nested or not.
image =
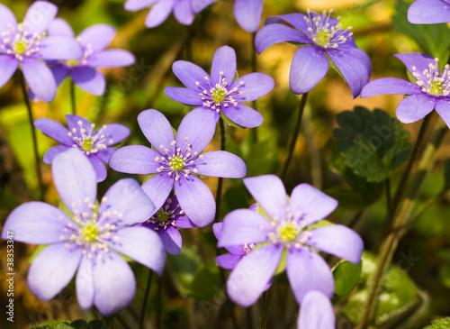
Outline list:
[[[202,93],[203,88],[207,90],[210,90],[211,88],[205,81],[205,78],[210,79],[208,73],[190,61],[176,60],[175,63],[172,64],[172,70],[174,71],[176,78],[189,89],[198,90],[199,93]],[[199,86],[197,86],[197,82],[199,83]]]

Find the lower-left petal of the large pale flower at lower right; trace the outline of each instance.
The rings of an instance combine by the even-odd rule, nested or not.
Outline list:
[[[243,257],[227,281],[231,300],[243,307],[255,304],[280,264],[283,249],[281,243],[271,243]]]

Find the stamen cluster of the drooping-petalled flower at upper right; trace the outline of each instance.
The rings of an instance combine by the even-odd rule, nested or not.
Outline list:
[[[311,33],[312,41],[323,48],[338,48],[340,44],[344,44],[347,38],[353,35],[353,32],[349,32],[352,27],[342,29],[340,23],[340,17],[338,17],[337,23],[330,23],[330,15],[333,10],[323,11],[321,16],[312,17],[311,11],[307,10],[308,17],[305,16],[305,22],[308,24],[308,31]]]

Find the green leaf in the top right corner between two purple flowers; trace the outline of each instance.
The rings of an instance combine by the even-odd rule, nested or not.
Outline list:
[[[446,65],[448,48],[450,47],[449,28],[446,24],[411,24],[407,12],[410,3],[398,1],[392,24],[395,30],[409,35],[419,43],[419,46],[431,56],[441,59],[439,64]],[[441,67],[442,69],[442,67]]]

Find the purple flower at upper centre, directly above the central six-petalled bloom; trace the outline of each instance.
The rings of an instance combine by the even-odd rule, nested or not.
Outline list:
[[[266,96],[274,88],[275,82],[264,73],[250,73],[234,80],[236,67],[236,52],[229,46],[216,50],[211,64],[211,77],[197,65],[177,60],[172,69],[186,88],[166,87],[166,96],[176,102],[211,109],[216,123],[221,109],[232,122],[244,127],[256,127],[263,123],[263,116],[242,103]]]

